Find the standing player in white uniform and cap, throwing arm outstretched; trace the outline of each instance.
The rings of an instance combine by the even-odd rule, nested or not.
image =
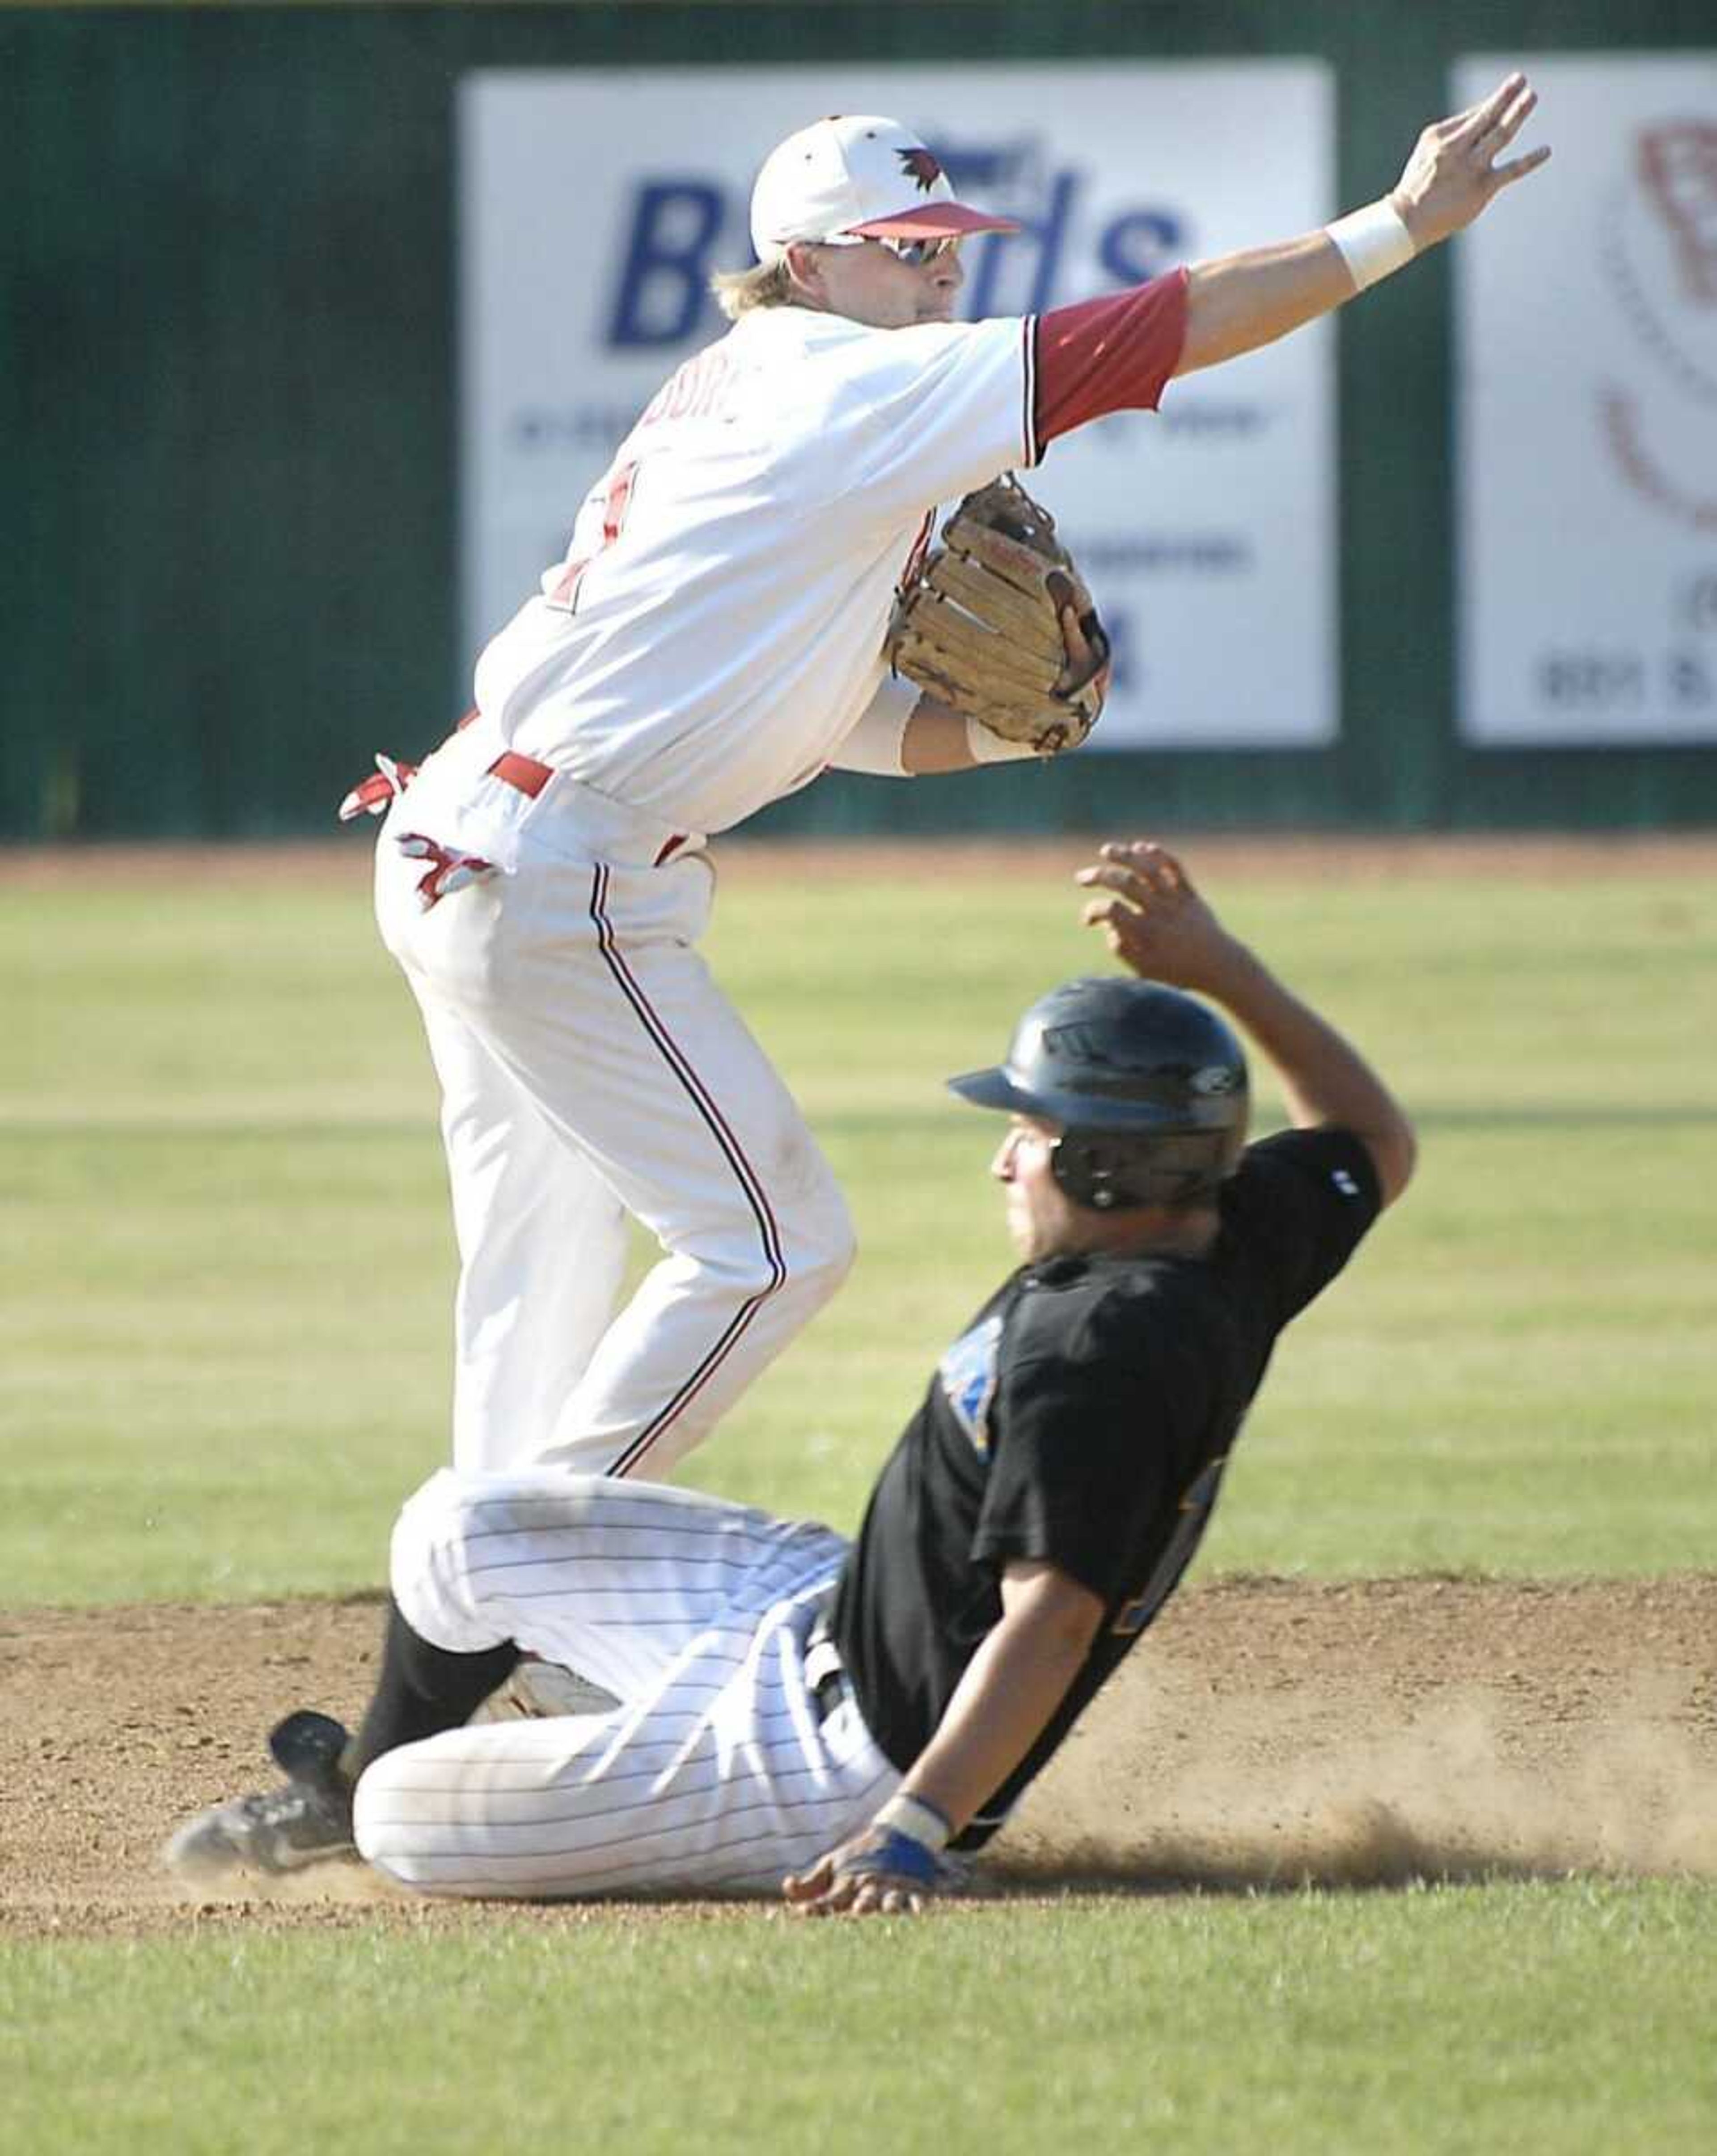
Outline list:
[[[771,153],[732,330],[625,438],[467,724],[358,798],[388,813],[377,916],[444,1093],[459,1468],[661,1477],[851,1263],[834,1175],[698,957],[704,843],[829,765],[1021,752],[888,679],[935,507],[1471,222],[1547,155],[1497,162],[1532,103],[1508,78],[1325,231],[978,323],[950,319],[959,244],[1006,220],[909,129],[827,119]],[[664,1255],[616,1317],[627,1212]]]

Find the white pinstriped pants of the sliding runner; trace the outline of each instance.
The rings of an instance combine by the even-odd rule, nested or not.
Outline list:
[[[401,1511],[407,1623],[515,1639],[620,1701],[405,1744],[358,1783],[362,1856],[424,1893],[778,1893],[901,1783],[806,1639],[847,1544],[692,1490],[442,1470]]]

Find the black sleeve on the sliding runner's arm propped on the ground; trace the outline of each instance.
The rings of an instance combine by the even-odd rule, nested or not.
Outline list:
[[[1217,1367],[1196,1339],[1198,1313],[1176,1326],[1170,1304],[1118,1298],[1064,1352],[1006,1373],[978,1563],[1000,1572],[1041,1559],[1103,1602],[1137,1587],[1140,1550],[1178,1494]]]

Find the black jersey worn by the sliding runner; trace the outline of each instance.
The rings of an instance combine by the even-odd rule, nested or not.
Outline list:
[[[1288,1130],[1241,1156],[1206,1257],[1015,1272],[937,1365],[877,1481],[832,1608],[860,1712],[903,1772],[1002,1619],[1008,1559],[1103,1598],[1084,1669],[961,1835],[978,1848],[1191,1561],[1275,1335],[1379,1212],[1366,1147]]]

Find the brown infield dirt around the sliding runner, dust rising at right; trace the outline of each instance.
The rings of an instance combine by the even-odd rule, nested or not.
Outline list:
[[[185,1811],[271,1777],[276,1714],[360,1708],[377,1634],[371,1600],[0,1615],[0,1934],[467,1921],[358,1869],[187,1902],[155,1863]],[[1015,1893],[1717,1876],[1713,1639],[1717,1576],[1191,1589],[987,1871]]]

